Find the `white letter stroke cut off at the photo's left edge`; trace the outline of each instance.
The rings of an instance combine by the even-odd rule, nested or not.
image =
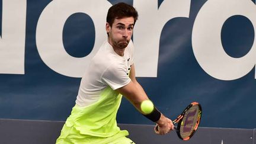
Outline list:
[[[2,36],[0,40],[0,73],[24,74],[25,0],[2,1]]]

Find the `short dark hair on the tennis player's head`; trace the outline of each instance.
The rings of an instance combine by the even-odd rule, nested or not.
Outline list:
[[[132,5],[128,5],[124,2],[120,2],[108,9],[107,23],[110,24],[110,27],[112,27],[112,24],[114,23],[114,20],[116,18],[119,19],[124,17],[133,17],[134,23],[135,23],[137,20],[138,14],[136,9],[133,8]]]

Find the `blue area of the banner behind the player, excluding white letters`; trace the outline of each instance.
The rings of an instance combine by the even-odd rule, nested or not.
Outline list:
[[[0,118],[66,120],[75,104],[81,78],[53,71],[41,60],[37,50],[37,22],[50,2],[27,0],[25,74],[0,73]],[[133,4],[133,1],[109,2]],[[191,42],[193,24],[205,2],[191,1],[189,18],[174,18],[165,24],[159,45],[157,78],[137,79],[156,107],[171,119],[180,114],[187,104],[198,101],[203,107],[200,126],[255,128],[255,69],[241,78],[224,81],[208,75],[194,56]],[[161,3],[158,1],[158,5]],[[184,34],[187,37],[183,37]],[[252,49],[254,35],[254,26],[247,17],[235,15],[228,18],[221,33],[225,52],[231,57],[247,55]],[[69,55],[87,56],[94,45],[94,37],[94,23],[89,15],[76,13],[66,21],[63,44]],[[182,44],[178,45],[178,42]],[[152,124],[125,99],[121,103],[117,122]]]

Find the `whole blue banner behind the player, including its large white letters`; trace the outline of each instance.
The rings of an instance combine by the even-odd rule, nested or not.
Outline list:
[[[2,0],[0,118],[66,120],[107,38],[111,5],[139,12],[137,80],[170,119],[193,101],[204,127],[255,128],[256,7],[243,0]],[[152,124],[125,98],[118,123]]]

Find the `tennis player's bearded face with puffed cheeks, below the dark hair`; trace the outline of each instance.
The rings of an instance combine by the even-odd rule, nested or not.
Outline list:
[[[109,34],[108,42],[117,49],[124,49],[127,47],[130,39],[132,38],[134,27],[133,17],[124,17],[115,19],[112,27],[107,23],[106,30]]]

